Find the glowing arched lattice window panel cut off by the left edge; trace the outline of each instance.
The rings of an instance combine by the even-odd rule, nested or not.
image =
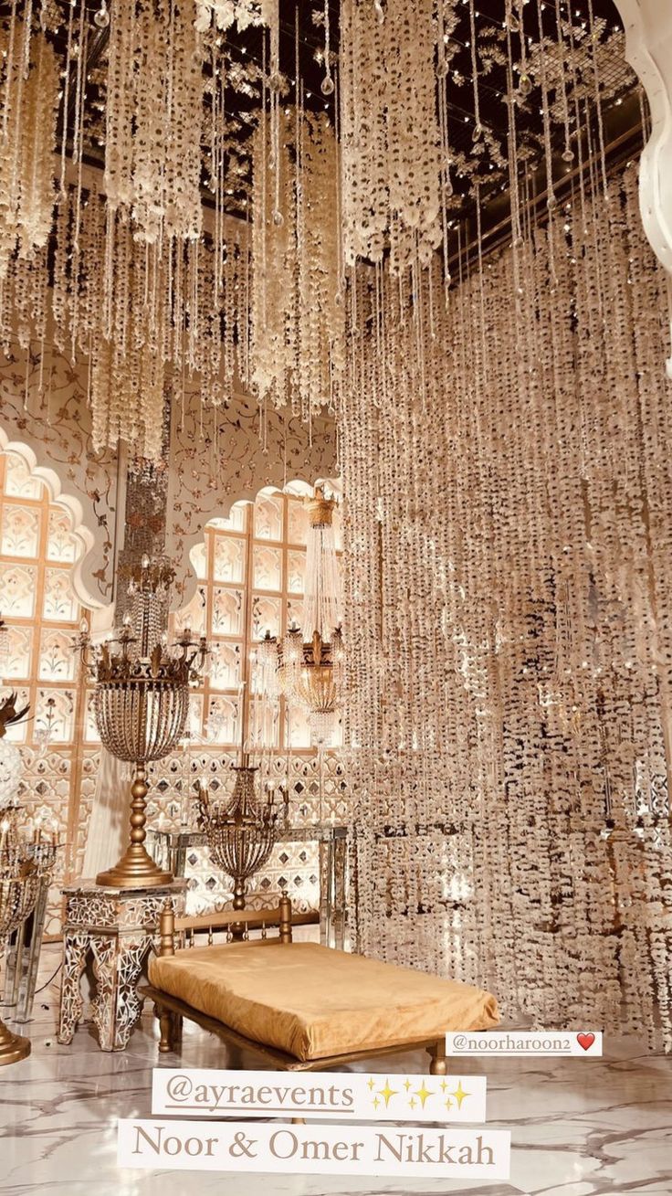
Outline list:
[[[60,934],[60,889],[77,872],[99,767],[92,695],[72,640],[83,608],[72,584],[80,544],[69,512],[12,450],[0,452],[0,617],[8,629],[2,687],[30,703],[28,721],[7,730],[22,749],[19,799],[63,849],[49,895],[45,932]]]

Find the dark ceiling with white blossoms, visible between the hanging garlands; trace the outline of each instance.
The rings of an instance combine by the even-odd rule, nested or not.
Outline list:
[[[121,0],[108,0],[114,16],[114,6]],[[127,0],[124,0],[127,2]],[[383,0],[383,4],[385,0]],[[450,200],[454,212],[456,227],[466,221],[468,238],[471,236],[476,203],[481,209],[483,236],[499,234],[506,226],[509,185],[508,163],[508,104],[509,78],[515,92],[515,155],[518,169],[526,172],[529,189],[540,193],[545,187],[548,154],[544,146],[544,122],[542,116],[540,77],[543,71],[551,74],[548,87],[551,109],[551,150],[557,177],[573,177],[578,161],[576,117],[581,124],[584,110],[595,110],[595,78],[600,96],[600,117],[604,124],[605,144],[622,150],[640,136],[640,100],[635,79],[623,57],[624,37],[622,22],[612,0],[523,0],[523,25],[515,17],[519,0],[513,0],[514,13],[508,28],[505,22],[507,0],[444,0],[447,35],[448,74],[446,94],[448,104],[450,145],[453,154],[452,185]],[[57,47],[66,61],[67,17],[69,0],[48,0],[53,13],[51,29],[47,36]],[[104,5],[103,5],[104,6]],[[19,10],[25,8],[20,0]],[[93,165],[104,163],[104,106],[105,68],[109,25],[98,28],[96,14],[100,10],[98,0],[87,0],[90,33],[87,44],[86,99],[88,122],[85,136],[85,159]],[[0,4],[0,19],[8,17],[11,5]],[[38,8],[38,0],[33,2]],[[337,74],[340,5],[329,4],[330,47],[332,69]],[[59,25],[59,14],[61,23]],[[98,18],[98,22],[100,18]],[[564,28],[566,53],[557,53],[558,20]],[[57,26],[57,28],[56,28]],[[476,32],[477,53],[472,49],[472,29]],[[569,30],[569,33],[568,33]],[[539,59],[540,35],[545,39],[545,66]],[[521,39],[525,35],[526,59],[523,62]],[[207,37],[214,38],[208,32]],[[262,104],[262,66],[264,41],[268,62],[268,30],[251,25],[244,31],[236,26],[218,35],[222,69],[226,74],[226,129],[225,146],[228,154],[227,203],[232,215],[245,210],[250,183],[250,136]],[[573,45],[572,61],[567,47]],[[595,51],[593,53],[593,47]],[[297,61],[299,73],[297,77]],[[474,65],[476,61],[475,87]],[[509,65],[511,62],[511,65]],[[525,69],[524,69],[525,68]],[[280,69],[283,75],[283,102],[295,102],[298,87],[303,87],[306,108],[324,110],[335,118],[336,94],[324,94],[324,6],[311,0],[280,0]],[[209,66],[204,66],[206,73]],[[561,73],[566,86],[558,84]],[[520,84],[526,74],[529,93]],[[556,84],[554,84],[554,79]],[[69,89],[69,111],[66,120],[68,147],[74,127],[74,89]],[[479,108],[482,134],[475,138],[476,103]],[[567,114],[567,120],[564,118]],[[63,127],[62,115],[59,130]],[[568,160],[566,133],[570,133],[572,160]],[[593,129],[593,141],[594,141]],[[585,134],[582,134],[585,141]],[[587,152],[581,146],[581,154]],[[611,150],[609,151],[611,152]],[[564,159],[563,159],[564,153]],[[203,202],[212,202],[207,176],[203,175]]]

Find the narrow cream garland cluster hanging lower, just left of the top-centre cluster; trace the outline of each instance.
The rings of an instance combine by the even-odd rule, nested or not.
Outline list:
[[[281,116],[273,170],[253,142],[251,380],[262,402],[307,416],[335,407],[344,368],[337,151],[325,116]],[[273,160],[273,159],[271,159]]]

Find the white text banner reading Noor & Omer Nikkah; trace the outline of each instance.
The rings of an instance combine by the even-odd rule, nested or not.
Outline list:
[[[508,1179],[511,1133],[373,1125],[118,1122],[120,1167]]]

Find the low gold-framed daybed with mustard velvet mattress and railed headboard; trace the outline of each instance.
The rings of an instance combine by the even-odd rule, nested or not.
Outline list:
[[[279,926],[280,936],[212,944],[213,928]],[[210,945],[175,951],[194,930]],[[446,1030],[487,1030],[499,1021],[490,993],[410,968],[384,964],[316,942],[292,941],[292,907],[175,917],[161,914],[161,946],[149,962],[160,1019],[159,1050],[173,1049],[187,1017],[221,1038],[253,1049],[276,1067],[310,1070],[423,1048],[444,1074]]]

